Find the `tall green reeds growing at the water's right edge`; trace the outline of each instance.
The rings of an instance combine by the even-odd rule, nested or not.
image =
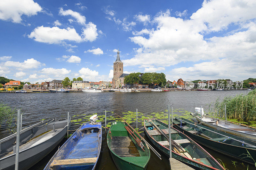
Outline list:
[[[247,95],[227,96],[220,101],[219,98],[213,103],[213,109],[209,106],[209,112],[214,116],[225,117],[225,105],[228,119],[243,120],[245,122],[256,120],[256,89]],[[210,111],[211,110],[211,111]]]

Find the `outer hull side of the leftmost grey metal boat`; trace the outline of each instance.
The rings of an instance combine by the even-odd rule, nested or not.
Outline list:
[[[26,150],[20,151],[19,152],[19,170],[29,169],[31,166],[35,165],[37,162],[43,159],[47,154],[49,154],[65,137],[67,133],[67,128],[68,126],[63,128],[54,137],[44,141],[43,143],[40,143]],[[0,159],[0,169],[9,170],[14,168],[15,168],[15,154],[12,154],[10,156]]]

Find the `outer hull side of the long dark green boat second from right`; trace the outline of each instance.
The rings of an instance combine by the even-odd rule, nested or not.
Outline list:
[[[188,121],[188,120],[186,120]],[[240,161],[244,161],[246,163],[250,163],[252,165],[254,165],[254,161],[252,161],[251,158],[245,158],[245,155],[248,154],[248,152],[251,154],[252,158],[255,160],[256,159],[256,149],[250,149],[250,148],[245,148],[245,147],[239,147],[239,146],[235,146],[235,145],[231,145],[231,144],[225,144],[222,142],[218,142],[218,141],[213,141],[210,139],[206,139],[204,137],[200,137],[198,135],[195,135],[193,133],[188,132],[187,130],[184,130],[183,128],[180,128],[179,126],[180,124],[174,124],[174,127],[180,131],[183,131],[185,135],[187,135],[188,137],[192,138],[193,140],[195,140],[197,143],[202,144],[216,152],[220,152],[224,155],[227,155],[231,158],[234,159],[238,159]],[[206,129],[208,129],[208,127],[196,124],[200,127],[204,127]],[[221,131],[217,131],[215,129],[211,129],[212,131],[216,131],[217,133],[223,134],[223,135],[228,135],[226,133],[223,133]],[[229,136],[230,137],[230,136]],[[231,137],[235,137],[235,136],[231,136]],[[237,138],[236,138],[237,139]],[[238,138],[238,140],[243,140]],[[254,142],[251,141],[246,141],[247,143],[253,144]],[[244,144],[245,145],[245,144]],[[256,143],[254,143],[254,145],[256,145]],[[248,151],[248,152],[247,152]]]

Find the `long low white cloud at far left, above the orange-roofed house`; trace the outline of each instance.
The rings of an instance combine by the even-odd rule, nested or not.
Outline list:
[[[24,60],[24,62],[22,62],[22,63],[14,62],[14,61],[6,61],[4,63],[4,66],[6,66],[6,67],[16,67],[18,70],[34,69],[34,68],[40,67],[41,65],[43,65],[43,64],[40,63],[39,61],[36,61],[34,58]]]

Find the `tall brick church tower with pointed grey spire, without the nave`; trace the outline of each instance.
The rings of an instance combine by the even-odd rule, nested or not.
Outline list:
[[[114,62],[114,74],[113,74],[113,87],[118,87],[120,82],[119,82],[119,77],[123,74],[124,72],[124,63],[120,60],[119,56],[119,47],[117,49],[117,57],[116,61]]]

